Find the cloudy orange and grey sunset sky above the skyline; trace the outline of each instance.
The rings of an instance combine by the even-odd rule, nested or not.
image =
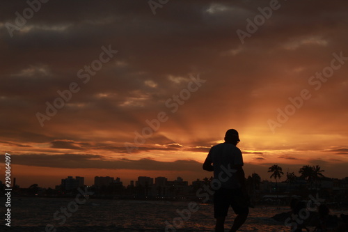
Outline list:
[[[40,4],[0,5],[0,180],[10,153],[21,187],[191,183],[212,175],[202,162],[230,128],[247,176],[273,164],[348,176],[347,1]]]

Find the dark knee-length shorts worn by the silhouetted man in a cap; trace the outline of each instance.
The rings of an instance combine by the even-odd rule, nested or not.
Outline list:
[[[214,217],[226,217],[230,206],[236,215],[249,212],[246,196],[243,196],[241,190],[224,188],[216,190],[214,193]]]

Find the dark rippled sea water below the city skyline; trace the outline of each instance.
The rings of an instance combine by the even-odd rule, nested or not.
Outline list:
[[[240,231],[290,231],[283,223],[271,219],[277,213],[289,210],[286,207],[251,208]],[[226,231],[234,217],[230,209]],[[4,227],[3,219],[1,221],[0,231],[21,232],[166,231],[166,227],[167,231],[214,231],[215,222],[212,204],[189,206],[189,202],[184,201],[88,199],[77,205],[74,199],[50,198],[13,198],[11,229]]]

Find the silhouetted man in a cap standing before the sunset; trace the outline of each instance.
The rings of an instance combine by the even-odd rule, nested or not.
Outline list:
[[[220,185],[215,188],[217,190],[214,193],[215,231],[224,230],[230,206],[237,215],[230,232],[237,231],[248,217],[248,194],[242,169],[243,157],[241,150],[236,146],[239,141],[237,130],[228,130],[225,142],[212,146],[203,164],[204,170],[214,171],[214,183]]]

